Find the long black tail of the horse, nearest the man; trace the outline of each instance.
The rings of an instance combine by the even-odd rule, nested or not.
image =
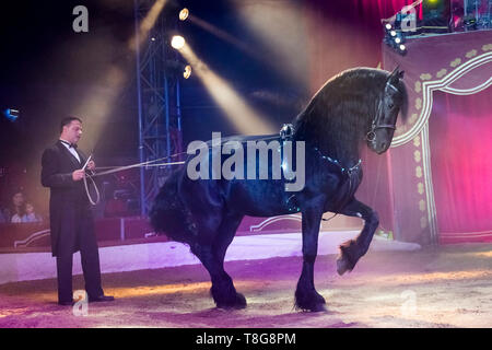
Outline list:
[[[188,209],[178,192],[179,174],[172,174],[161,187],[150,211],[152,226],[157,234],[173,241],[190,243],[194,236]]]

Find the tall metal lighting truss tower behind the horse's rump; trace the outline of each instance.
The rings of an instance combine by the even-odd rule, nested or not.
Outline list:
[[[167,158],[155,162],[162,164],[176,161],[171,155],[181,149],[179,75],[166,63],[177,59],[168,44],[169,34],[176,27],[173,16],[166,15],[164,9],[148,35],[139,32],[154,2],[134,0],[139,158],[141,163]],[[171,166],[155,164],[140,167],[141,215],[148,214],[172,170]]]

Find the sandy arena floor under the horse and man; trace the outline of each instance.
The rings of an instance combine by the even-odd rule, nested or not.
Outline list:
[[[54,279],[3,284],[0,327],[492,327],[490,244],[370,250],[342,277],[335,255],[319,256],[321,313],[293,308],[301,266],[301,257],[226,262],[248,301],[238,311],[214,307],[200,265],[103,275],[116,301],[89,304],[86,316],[56,303]]]

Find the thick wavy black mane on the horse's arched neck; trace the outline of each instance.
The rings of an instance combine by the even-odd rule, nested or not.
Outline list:
[[[376,116],[388,77],[385,70],[355,68],[331,78],[295,118],[295,138],[335,153],[359,144]],[[405,84],[397,88],[406,102]],[[405,105],[401,112],[406,114]]]

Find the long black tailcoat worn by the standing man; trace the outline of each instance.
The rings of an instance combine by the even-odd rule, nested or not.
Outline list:
[[[82,221],[93,221],[84,183],[72,179],[73,171],[82,168],[87,159],[80,150],[75,151],[80,162],[58,141],[46,149],[42,156],[42,185],[50,189],[49,224],[54,256],[78,252],[80,248],[77,236]],[[65,244],[68,246],[60,246],[60,235],[69,235],[73,240],[68,240],[70,244]]]

